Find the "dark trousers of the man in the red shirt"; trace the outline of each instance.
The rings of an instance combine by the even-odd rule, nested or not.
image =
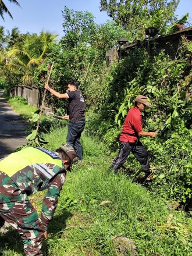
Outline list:
[[[146,173],[149,172],[149,169],[150,169],[149,155],[146,148],[141,143],[141,141],[138,140],[136,143],[119,141],[119,146],[120,146],[119,155],[112,162],[113,170],[119,169],[120,166],[122,166],[123,163],[125,163],[130,152],[132,152],[133,155],[137,158],[137,160],[140,161],[143,167],[143,170]]]

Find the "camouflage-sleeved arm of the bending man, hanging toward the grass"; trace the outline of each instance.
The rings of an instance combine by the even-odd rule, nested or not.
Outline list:
[[[57,176],[55,176],[54,180],[52,180],[52,182],[49,184],[49,189],[42,202],[41,220],[44,223],[46,229],[52,217],[54,216],[58,198],[60,196],[64,182],[65,173],[59,173]]]

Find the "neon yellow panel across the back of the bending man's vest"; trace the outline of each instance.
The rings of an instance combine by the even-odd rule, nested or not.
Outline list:
[[[12,177],[15,173],[24,169],[26,166],[37,165],[38,163],[41,168],[43,168],[42,163],[51,163],[62,168],[61,159],[54,159],[50,154],[48,155],[46,152],[43,152],[38,148],[27,147],[2,159],[2,161],[0,161],[0,170],[6,173],[9,177]],[[40,166],[38,166],[38,169]],[[54,173],[49,170],[46,176],[52,177],[53,174]]]

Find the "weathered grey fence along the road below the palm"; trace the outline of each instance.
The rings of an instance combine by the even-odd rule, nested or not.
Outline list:
[[[16,86],[10,91],[10,96],[22,96],[30,105],[39,107],[41,105],[41,90],[37,87]]]

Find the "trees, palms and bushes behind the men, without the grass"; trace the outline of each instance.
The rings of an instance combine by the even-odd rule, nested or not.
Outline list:
[[[6,77],[1,80],[1,84],[6,81],[10,88],[25,82],[42,88],[47,66],[55,61],[50,86],[63,93],[67,81],[77,79],[81,82],[80,90],[87,102],[86,133],[102,138],[111,159],[118,150],[121,126],[127,111],[134,104],[134,97],[138,94],[147,95],[152,108],[145,113],[144,130],[159,132],[155,139],[142,139],[150,152],[154,174],[151,184],[146,186],[167,199],[179,201],[186,209],[190,208],[191,42],[183,38],[175,59],[164,51],[156,52],[154,58],[148,58],[144,48],[130,49],[125,58],[109,67],[105,59],[108,49],[118,47],[120,37],[128,37],[129,40],[135,36],[141,38],[142,29],[152,26],[152,19],[158,20],[158,12],[162,11],[163,15],[168,12],[168,16],[165,15],[168,19],[163,21],[159,18],[158,25],[159,29],[162,27],[166,31],[168,28],[174,31],[174,22],[184,24],[187,15],[180,20],[175,19],[173,13],[178,1],[151,1],[147,6],[146,1],[113,1],[114,5],[110,2],[110,6],[105,7],[111,8],[114,21],[103,25],[95,24],[89,12],[65,8],[62,12],[65,35],[58,43],[54,42],[55,35],[48,33],[19,34],[18,37],[18,31],[12,31],[9,42],[6,42],[7,47],[1,51],[4,58],[1,72],[4,72],[2,77]],[[137,17],[138,30],[134,26],[130,30],[129,23],[125,26],[120,23],[120,19],[117,20],[120,16],[116,15],[120,15],[128,3],[130,9],[126,10],[130,10],[130,13],[127,19],[136,28],[132,17]],[[104,1],[102,4],[104,6]],[[113,13],[113,8],[119,8],[119,14],[116,9]],[[147,16],[140,17],[139,12],[143,15],[146,12]],[[174,22],[170,23],[171,20]],[[5,38],[3,30],[2,38]],[[66,112],[65,101],[47,97],[47,104],[55,112]],[[129,177],[137,182],[137,177],[142,175],[140,164],[130,156],[126,168],[134,169]]]

